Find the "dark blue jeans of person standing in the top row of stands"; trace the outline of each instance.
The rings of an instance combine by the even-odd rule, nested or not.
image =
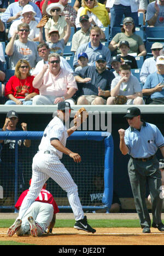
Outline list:
[[[132,13],[130,6],[125,6],[122,4],[114,4],[110,9],[110,27],[120,27],[123,15],[125,17],[131,17],[134,20],[134,25],[139,26],[138,23],[138,12]]]

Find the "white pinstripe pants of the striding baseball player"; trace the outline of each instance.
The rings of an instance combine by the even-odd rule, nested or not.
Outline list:
[[[32,164],[32,182],[31,187],[22,202],[19,219],[24,217],[24,214],[38,197],[44,183],[51,177],[60,185],[60,187],[67,192],[69,204],[74,213],[75,220],[84,218],[83,208],[78,195],[78,187],[74,183],[71,174],[62,164],[55,154],[44,154],[38,152],[33,158]]]

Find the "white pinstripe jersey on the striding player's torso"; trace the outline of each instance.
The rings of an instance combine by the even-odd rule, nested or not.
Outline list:
[[[66,141],[68,138],[67,127],[63,124],[62,120],[58,117],[54,117],[48,126],[44,130],[42,140],[39,145],[40,150],[49,150],[52,154],[57,154],[58,158],[62,158],[63,153],[51,146],[53,139],[58,139],[64,147],[66,147]]]

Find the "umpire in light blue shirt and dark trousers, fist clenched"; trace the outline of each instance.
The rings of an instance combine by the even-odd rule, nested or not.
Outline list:
[[[164,158],[164,138],[154,124],[146,123],[140,119],[140,115],[140,109],[137,107],[127,109],[125,118],[130,127],[126,131],[124,129],[119,130],[120,150],[123,155],[129,154],[131,156],[128,162],[128,175],[143,233],[150,233],[151,226],[145,203],[147,183],[152,202],[152,227],[164,231],[161,220],[161,172],[159,161],[156,158],[158,148],[160,148]]]

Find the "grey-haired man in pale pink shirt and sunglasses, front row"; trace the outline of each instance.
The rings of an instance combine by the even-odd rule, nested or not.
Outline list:
[[[51,105],[67,100],[73,106],[72,96],[78,90],[71,73],[60,66],[60,55],[52,53],[42,71],[33,80],[33,87],[40,95],[33,98],[33,105]]]

